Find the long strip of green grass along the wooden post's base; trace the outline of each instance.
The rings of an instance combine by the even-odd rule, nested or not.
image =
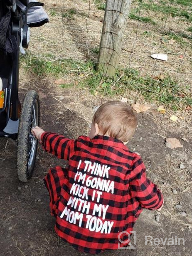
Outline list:
[[[54,58],[50,58],[46,56],[44,59],[40,59],[28,54],[26,57],[22,57],[22,63],[36,76],[57,79],[73,74],[73,78],[78,81],[78,86],[88,88],[92,94],[113,96],[137,91],[146,101],[156,101],[158,104],[170,106],[174,111],[177,111],[182,105],[192,106],[189,86],[180,88],[168,74],[163,80],[158,80],[147,75],[140,76],[135,69],[119,69],[113,78],[108,78],[95,71],[93,62],[79,62],[72,59],[53,61]],[[62,88],[73,86],[73,83],[60,85]]]

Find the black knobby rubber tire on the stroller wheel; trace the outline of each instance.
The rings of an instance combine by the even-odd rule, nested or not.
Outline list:
[[[37,146],[38,142],[35,145],[35,153],[34,153],[34,161],[32,164],[32,170],[29,172],[28,168],[28,154],[29,154],[29,136],[31,134],[31,121],[32,121],[32,111],[34,103],[38,105],[37,107],[37,126],[39,126],[39,96],[36,91],[28,91],[25,99],[23,101],[21,116],[20,116],[20,124],[19,124],[19,132],[17,137],[17,174],[18,178],[22,182],[27,182],[29,178],[32,176],[35,164],[35,158],[37,154]]]

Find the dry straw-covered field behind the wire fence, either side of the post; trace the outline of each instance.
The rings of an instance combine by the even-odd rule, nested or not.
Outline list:
[[[105,1],[47,0],[45,9],[50,22],[44,27],[32,29],[30,54],[51,62],[72,59],[96,63]],[[152,54],[167,54],[168,60],[152,59]],[[187,104],[190,105],[192,2],[133,0],[119,66],[162,84],[163,79],[169,76],[177,86],[183,88],[176,97],[182,100],[187,96]],[[165,86],[169,86],[169,81]]]

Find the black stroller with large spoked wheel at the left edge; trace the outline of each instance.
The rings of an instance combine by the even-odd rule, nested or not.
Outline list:
[[[30,27],[48,22],[40,2],[0,0],[0,137],[17,140],[17,173],[22,182],[32,176],[38,141],[31,133],[39,126],[39,96],[28,91],[19,100],[19,57],[28,48]]]

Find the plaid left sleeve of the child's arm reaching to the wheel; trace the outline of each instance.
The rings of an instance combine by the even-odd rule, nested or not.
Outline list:
[[[41,135],[42,148],[57,158],[69,160],[74,154],[74,140],[57,133],[44,132]]]

